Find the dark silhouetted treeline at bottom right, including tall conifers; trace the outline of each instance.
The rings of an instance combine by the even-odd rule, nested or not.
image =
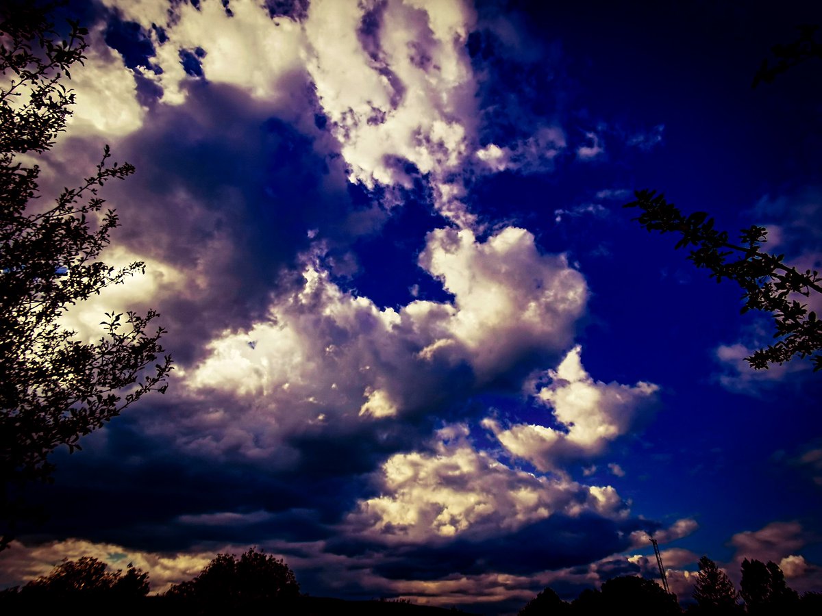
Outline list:
[[[560,599],[546,588],[529,601],[519,616],[602,616],[602,614],[654,614],[655,616],[819,616],[822,594],[799,595],[785,582],[776,563],[759,560],[742,561],[740,590],[727,574],[707,556],[700,559],[694,603],[685,610],[677,595],[663,591],[652,580],[636,576],[614,577],[600,590],[586,589],[573,601]]]

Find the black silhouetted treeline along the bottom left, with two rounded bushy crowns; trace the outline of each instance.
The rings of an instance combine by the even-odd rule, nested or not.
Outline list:
[[[456,609],[413,605],[409,600],[347,601],[300,594],[293,571],[282,559],[256,548],[239,558],[217,554],[187,582],[149,596],[149,574],[128,565],[109,570],[101,560],[64,559],[48,575],[0,592],[0,614],[118,614],[118,616],[446,616]]]

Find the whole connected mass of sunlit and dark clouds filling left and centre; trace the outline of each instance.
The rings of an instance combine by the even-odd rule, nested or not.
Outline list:
[[[477,96],[469,2],[316,0],[286,15],[251,0],[103,4],[72,132],[43,179],[53,188],[93,168],[99,137],[113,136],[138,176],[107,186],[122,228],[104,258],[145,261],[146,274],[66,324],[91,340],[105,311],[158,308],[177,368],[166,398],[91,435],[80,462],[65,464],[55,494],[79,503],[50,528],[89,539],[16,545],[25,555],[0,555],[6,570],[34,576],[89,554],[150,570],[156,591],[195,575],[213,556],[204,545],[262,537],[309,578],[350,565],[340,590],[372,584],[435,601],[569,563],[586,569],[569,573],[581,580],[592,560],[626,549],[640,523],[626,502],[610,485],[570,480],[561,462],[603,453],[655,385],[598,382],[576,347],[531,392],[554,427],[485,422],[508,453],[551,475],[469,439],[472,413],[485,411],[465,416],[465,401],[518,395],[556,365],[589,296],[565,255],[524,228],[477,228],[463,203],[472,177],[542,172],[569,147],[560,123],[533,109],[513,136],[480,126],[493,113]],[[115,30],[143,55],[105,47]],[[347,290],[351,246],[417,193],[450,219],[414,249],[449,297],[417,288],[381,307]],[[104,507],[117,514],[89,529]],[[159,545],[182,552],[150,551]],[[400,549],[386,557],[386,545]],[[440,550],[440,586],[423,580],[428,549]],[[486,562],[496,572],[480,572]],[[597,571],[617,568],[635,569]],[[481,599],[510,596],[503,587]]]

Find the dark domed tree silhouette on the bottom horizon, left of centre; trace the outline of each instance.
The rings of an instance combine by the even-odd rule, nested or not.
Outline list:
[[[239,559],[233,554],[217,554],[200,575],[172,586],[166,596],[209,613],[218,608],[247,608],[293,599],[299,591],[293,571],[282,559],[251,548]]]

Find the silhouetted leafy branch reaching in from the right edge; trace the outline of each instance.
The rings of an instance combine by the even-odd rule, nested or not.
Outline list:
[[[727,278],[742,287],[745,300],[742,313],[748,310],[772,313],[774,338],[780,339],[746,357],[751,367],[767,369],[769,364],[783,364],[793,356],[810,356],[814,370],[822,369],[822,320],[797,300],[797,296],[810,297],[811,293],[822,292],[819,272],[809,269],[803,274],[784,264],[785,255],[761,251],[760,246],[767,237],[764,227],[752,225],[742,229],[740,244],[732,244],[727,232],[713,228],[713,218],[705,212],[686,217],[656,191],[635,191],[634,194],[636,200],[625,207],[642,210],[635,220],[644,228],[649,232],[681,234],[676,248],[697,246],[688,255],[696,267],[709,269],[711,278],[716,278],[718,283]]]

